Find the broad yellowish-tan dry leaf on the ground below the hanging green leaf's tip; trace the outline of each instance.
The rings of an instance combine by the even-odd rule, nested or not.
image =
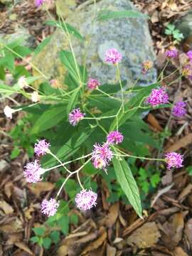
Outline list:
[[[151,222],[135,230],[132,235],[127,238],[127,243],[133,247],[149,248],[154,246],[160,237],[159,228],[155,222]]]

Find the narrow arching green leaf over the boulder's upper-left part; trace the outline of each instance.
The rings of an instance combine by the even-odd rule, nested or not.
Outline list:
[[[49,26],[56,26],[57,28],[61,28],[64,31],[68,31],[68,33],[72,34],[80,41],[84,41],[83,36],[77,31],[77,29],[68,23],[63,23],[61,21],[46,21],[46,24],[48,24]]]

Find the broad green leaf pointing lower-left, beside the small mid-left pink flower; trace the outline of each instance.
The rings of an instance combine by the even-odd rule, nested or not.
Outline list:
[[[65,105],[55,105],[50,110],[44,112],[33,124],[31,134],[43,132],[51,127],[54,127],[58,122],[65,119]]]

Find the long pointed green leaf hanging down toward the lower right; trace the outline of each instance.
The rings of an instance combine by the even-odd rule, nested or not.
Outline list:
[[[117,176],[117,181],[122,187],[122,190],[124,191],[134,210],[137,212],[139,217],[142,218],[142,205],[139,196],[139,189],[134,177],[132,176],[132,171],[124,159],[119,160],[114,157],[112,162],[115,174]]]

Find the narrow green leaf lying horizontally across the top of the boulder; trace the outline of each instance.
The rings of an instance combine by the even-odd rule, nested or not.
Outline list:
[[[140,11],[110,11],[102,10],[97,16],[97,21],[106,21],[110,18],[149,18],[146,14],[142,14]]]

